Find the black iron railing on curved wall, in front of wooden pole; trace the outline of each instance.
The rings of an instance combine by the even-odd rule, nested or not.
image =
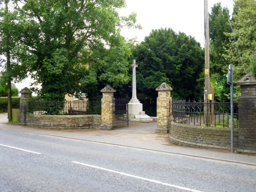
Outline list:
[[[230,127],[231,105],[230,102],[195,102],[177,101],[170,102],[170,114],[174,122],[200,126]],[[233,104],[234,127],[238,128],[238,103]]]

